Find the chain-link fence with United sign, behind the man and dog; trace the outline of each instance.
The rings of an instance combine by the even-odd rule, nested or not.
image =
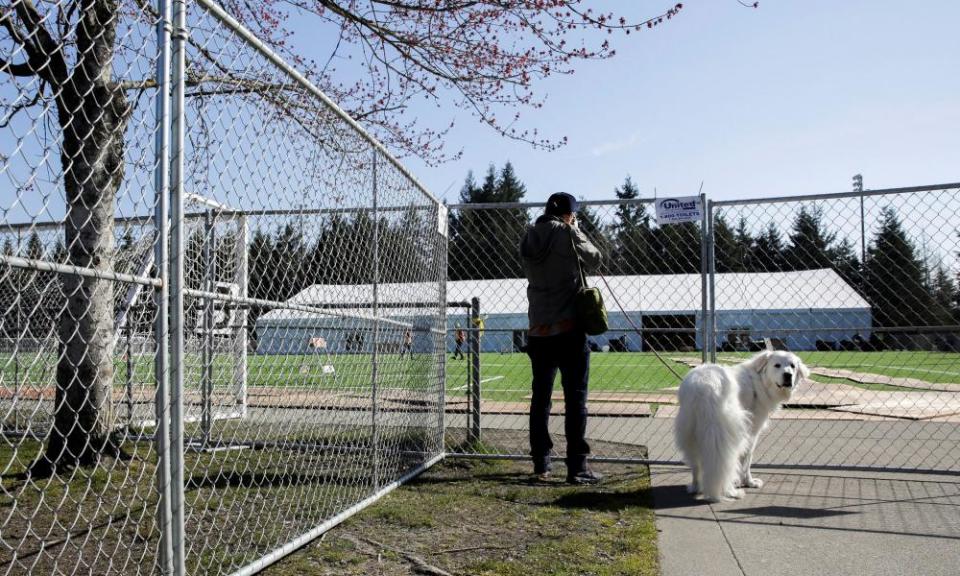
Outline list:
[[[813,375],[775,415],[757,461],[960,469],[958,188],[705,202],[703,221],[663,226],[654,201],[583,202],[579,226],[604,254],[588,282],[610,314],[610,331],[590,337],[593,456],[678,461],[680,377],[704,360],[787,349]],[[448,443],[524,458],[531,374],[518,243],[542,206],[450,209],[448,296],[474,306],[448,316]],[[558,384],[558,454],[562,397]]]

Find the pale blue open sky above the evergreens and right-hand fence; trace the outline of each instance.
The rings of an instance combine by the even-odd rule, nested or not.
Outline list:
[[[602,3],[601,3],[602,4]],[[634,17],[667,1],[607,2]],[[627,174],[644,196],[766,197],[960,181],[960,2],[690,0],[652,31],[615,38],[617,56],[540,85],[528,127],[570,143],[543,152],[452,107],[424,107],[463,159],[407,164],[455,202],[468,170],[513,162],[539,201],[565,190],[608,198]],[[311,46],[295,42],[306,53]]]

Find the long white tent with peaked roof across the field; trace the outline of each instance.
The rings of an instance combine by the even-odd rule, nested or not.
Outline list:
[[[612,276],[606,282],[590,276],[587,281],[600,287],[610,315],[611,330],[594,338],[596,344],[602,346],[609,340],[622,339],[628,349],[642,349],[643,338],[633,330],[632,323],[648,338],[660,331],[674,334],[674,341],[683,342],[679,347],[702,346],[703,291],[699,274]],[[870,335],[870,305],[832,269],[716,274],[714,292],[719,344],[731,335],[769,337],[783,340],[793,350],[808,350],[815,347],[817,340],[840,341],[854,335]],[[510,278],[447,282],[448,302],[469,302],[474,297],[479,298],[485,318],[483,350],[508,352],[518,348],[527,329],[527,281]],[[437,284],[430,283],[381,284],[377,298],[385,306],[385,315],[423,324],[429,322],[423,308],[402,305],[438,302],[440,291]],[[333,307],[345,314],[369,314],[369,308],[349,306],[372,301],[370,285],[316,285],[290,299],[291,303]],[[463,308],[451,308],[448,330],[457,324],[466,327],[467,313]],[[323,332],[324,327],[332,326],[331,322],[300,310],[271,311],[257,321],[258,351],[301,350],[311,335],[323,335],[314,333]],[[340,324],[352,325],[350,321]]]

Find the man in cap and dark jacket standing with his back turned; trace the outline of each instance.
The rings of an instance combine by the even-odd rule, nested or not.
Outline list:
[[[600,474],[587,468],[587,381],[590,348],[577,325],[576,294],[581,288],[579,265],[600,264],[600,251],[577,227],[577,200],[558,192],[547,200],[544,214],[527,228],[520,256],[527,276],[530,322],[527,354],[533,372],[530,401],[530,455],[535,474],[550,472],[553,441],[547,423],[550,396],[560,371],[567,437],[567,482],[595,484]],[[579,263],[578,263],[579,259]]]

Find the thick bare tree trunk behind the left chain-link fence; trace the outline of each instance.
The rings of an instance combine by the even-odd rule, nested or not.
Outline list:
[[[114,270],[114,211],[124,176],[130,106],[111,79],[117,5],[88,0],[77,26],[82,55],[57,97],[67,214],[67,263]],[[34,474],[118,456],[114,438],[114,281],[63,276],[54,423]]]

